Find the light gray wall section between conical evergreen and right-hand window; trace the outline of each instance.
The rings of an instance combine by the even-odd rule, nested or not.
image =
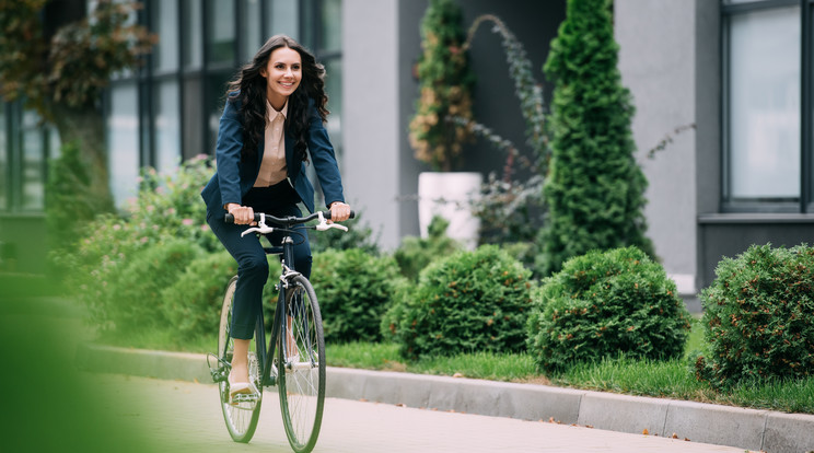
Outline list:
[[[700,2],[717,7],[708,0]],[[697,288],[699,131],[689,129],[676,135],[674,130],[684,125],[700,125],[711,113],[706,111],[707,106],[699,112],[696,96],[699,83],[705,83],[697,80],[696,0],[616,0],[614,5],[619,70],[636,103],[633,138],[650,183],[646,209],[648,235],[679,291],[693,293]],[[717,43],[703,44],[717,48]],[[647,152],[667,135],[673,142],[654,159],[647,159]]]

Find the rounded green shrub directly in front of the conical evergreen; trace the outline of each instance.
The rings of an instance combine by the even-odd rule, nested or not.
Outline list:
[[[690,328],[675,282],[636,247],[572,258],[533,299],[528,350],[546,371],[620,353],[677,358]]]

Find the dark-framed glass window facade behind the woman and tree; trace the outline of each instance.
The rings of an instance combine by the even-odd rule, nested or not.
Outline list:
[[[89,1],[89,11],[94,1]],[[340,148],[341,0],[143,0],[132,21],[159,36],[146,65],[112,78],[103,105],[117,206],[140,169],[172,173],[214,152],[226,82],[275,34],[311,48],[328,69],[328,123]],[[47,160],[58,138],[21,103],[0,104],[0,212],[44,209]]]

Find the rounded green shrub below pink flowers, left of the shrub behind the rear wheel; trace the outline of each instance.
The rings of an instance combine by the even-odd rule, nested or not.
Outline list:
[[[168,326],[162,291],[175,284],[189,263],[201,254],[198,245],[173,239],[132,255],[116,281],[111,282],[107,320],[119,333]]]

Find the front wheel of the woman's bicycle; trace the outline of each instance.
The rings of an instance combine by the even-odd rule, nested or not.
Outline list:
[[[296,276],[286,289],[286,329],[279,336],[280,410],[291,448],[310,452],[316,444],[325,404],[325,339],[311,282]]]

